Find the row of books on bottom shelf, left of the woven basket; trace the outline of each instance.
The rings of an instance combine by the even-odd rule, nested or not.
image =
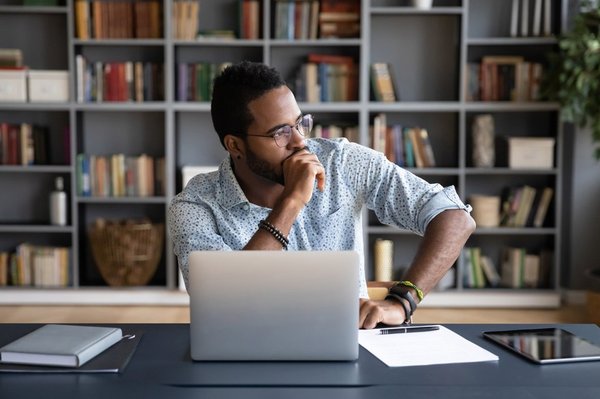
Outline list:
[[[69,248],[28,243],[0,252],[0,286],[66,287],[70,257]]]

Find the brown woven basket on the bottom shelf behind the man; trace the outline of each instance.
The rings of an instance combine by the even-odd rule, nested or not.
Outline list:
[[[154,276],[163,251],[164,224],[98,219],[89,236],[94,261],[108,285],[146,285]]]

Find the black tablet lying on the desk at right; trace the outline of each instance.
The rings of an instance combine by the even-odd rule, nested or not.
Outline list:
[[[485,331],[483,336],[535,363],[600,360],[600,346],[560,328]]]

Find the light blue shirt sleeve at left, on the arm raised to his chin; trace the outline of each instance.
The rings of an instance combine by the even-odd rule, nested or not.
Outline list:
[[[192,251],[231,251],[218,233],[215,218],[210,208],[202,203],[173,198],[167,215],[169,235],[173,251],[177,256],[179,270],[188,287],[188,257]]]

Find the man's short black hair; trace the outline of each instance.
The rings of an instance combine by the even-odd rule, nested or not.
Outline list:
[[[248,103],[285,84],[275,68],[251,61],[233,64],[215,78],[210,114],[223,147],[226,135],[246,134],[253,121]]]

